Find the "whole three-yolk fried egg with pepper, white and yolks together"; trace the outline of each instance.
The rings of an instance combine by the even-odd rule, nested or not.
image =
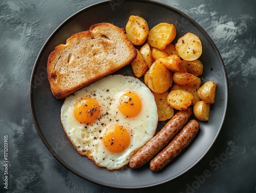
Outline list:
[[[154,95],[139,79],[110,75],[67,97],[61,123],[77,151],[118,169],[149,141],[158,123]]]

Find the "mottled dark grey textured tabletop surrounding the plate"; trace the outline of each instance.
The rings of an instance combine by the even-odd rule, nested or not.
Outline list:
[[[196,20],[224,60],[229,103],[223,128],[207,155],[181,177],[140,190],[105,188],[63,167],[36,132],[29,83],[50,34],[78,10],[100,1],[0,2],[0,192],[256,192],[256,2],[159,1]],[[121,1],[119,1],[121,2]],[[8,135],[8,191],[4,136]],[[200,178],[208,174],[206,178]]]

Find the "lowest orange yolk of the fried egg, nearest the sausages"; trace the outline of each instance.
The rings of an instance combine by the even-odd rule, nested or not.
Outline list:
[[[129,146],[130,135],[123,126],[112,125],[106,129],[101,140],[109,152],[121,153]]]

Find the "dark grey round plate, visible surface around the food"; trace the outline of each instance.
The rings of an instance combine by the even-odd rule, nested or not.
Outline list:
[[[181,11],[153,1],[105,1],[84,8],[67,18],[48,38],[37,56],[30,82],[31,113],[37,132],[52,155],[74,174],[96,184],[116,188],[142,188],[166,183],[184,174],[195,166],[208,152],[216,140],[227,108],[228,84],[221,55],[207,33],[193,19]],[[120,1],[121,2],[121,1]],[[60,109],[63,99],[56,99],[50,90],[47,79],[47,60],[49,54],[59,44],[74,33],[89,30],[97,23],[108,22],[120,28],[125,25],[130,15],[143,17],[150,29],[166,22],[174,24],[178,37],[192,32],[197,34],[203,45],[203,54],[199,60],[204,65],[200,76],[202,83],[211,80],[218,83],[216,101],[211,105],[210,119],[200,122],[200,132],[184,151],[165,166],[161,171],[154,172],[146,164],[141,168],[132,169],[128,165],[118,170],[107,170],[98,167],[87,157],[80,156],[69,141],[60,122]],[[115,74],[133,76],[131,66],[127,66]],[[166,122],[159,122],[157,130]]]

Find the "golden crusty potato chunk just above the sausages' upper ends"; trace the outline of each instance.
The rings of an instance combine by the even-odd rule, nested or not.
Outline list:
[[[167,97],[169,105],[176,110],[186,110],[193,101],[193,94],[184,90],[170,91]]]

